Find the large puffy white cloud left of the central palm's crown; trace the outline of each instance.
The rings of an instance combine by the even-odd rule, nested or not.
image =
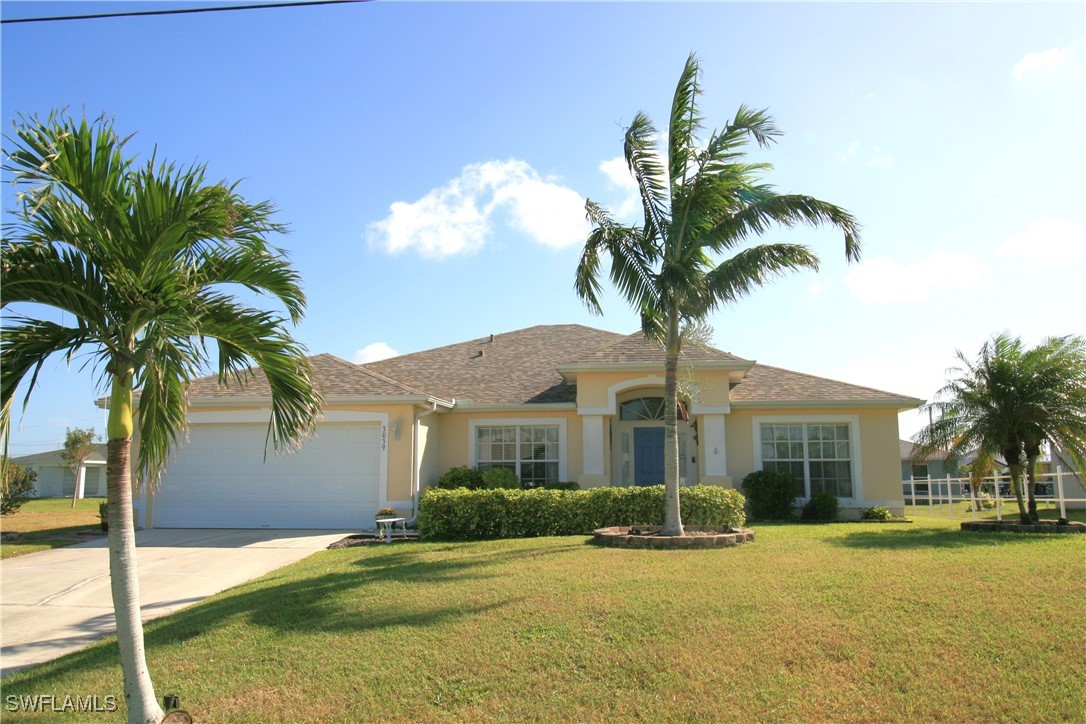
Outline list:
[[[418,201],[394,202],[387,217],[367,227],[366,237],[389,254],[409,249],[434,259],[473,254],[502,212],[509,227],[552,249],[582,243],[589,232],[579,193],[510,158],[470,164]]]

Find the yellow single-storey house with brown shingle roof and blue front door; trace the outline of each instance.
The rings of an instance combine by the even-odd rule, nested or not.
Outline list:
[[[450,468],[506,467],[522,483],[581,487],[664,480],[662,348],[637,332],[540,326],[353,365],[311,358],[325,396],[316,434],[292,455],[265,442],[269,390],[214,377],[189,390],[188,443],[137,500],[151,528],[372,524],[412,517]],[[897,415],[922,401],[687,344],[679,423],[684,485],[738,487],[792,472],[800,500],[828,491],[845,515],[901,512]]]

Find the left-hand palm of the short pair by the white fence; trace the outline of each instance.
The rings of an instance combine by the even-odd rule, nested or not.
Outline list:
[[[1026,467],[1024,415],[1030,374],[1023,364],[1022,341],[1002,333],[984,343],[975,361],[961,351],[955,374],[927,407],[939,415],[915,437],[918,456],[944,448],[951,458],[975,450],[978,459],[1002,458],[1011,477],[1011,490],[1022,522],[1030,512],[1022,495],[1022,471]]]

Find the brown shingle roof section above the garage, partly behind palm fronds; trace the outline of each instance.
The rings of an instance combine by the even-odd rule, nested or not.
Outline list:
[[[313,376],[320,392],[326,396],[387,396],[422,395],[420,389],[390,379],[380,372],[358,365],[352,365],[336,355],[323,354],[310,357]],[[243,388],[235,384],[220,385],[218,376],[202,377],[189,385],[190,398],[218,397],[268,397],[272,389],[267,378],[258,369],[253,372]]]

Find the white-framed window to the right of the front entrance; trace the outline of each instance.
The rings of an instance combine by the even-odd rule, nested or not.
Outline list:
[[[762,423],[763,470],[786,472],[796,495],[853,497],[853,441],[847,422]]]

